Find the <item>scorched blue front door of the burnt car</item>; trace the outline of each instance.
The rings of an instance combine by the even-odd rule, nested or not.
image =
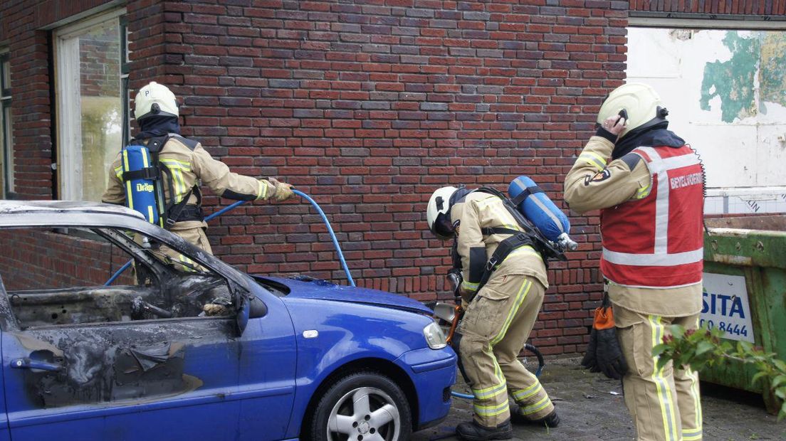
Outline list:
[[[79,299],[111,303],[139,294],[150,300],[158,292],[171,294],[168,283],[2,290],[3,385],[15,441],[55,433],[118,440],[284,436],[294,396],[295,341],[288,314],[272,295],[264,314],[251,319],[242,312],[82,319],[101,312]],[[204,285],[201,279],[189,283]],[[65,316],[77,323],[61,323]],[[46,323],[50,317],[53,323]]]

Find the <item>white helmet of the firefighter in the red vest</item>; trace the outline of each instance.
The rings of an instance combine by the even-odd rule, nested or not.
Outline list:
[[[619,115],[623,110],[627,114],[627,124],[619,133],[620,138],[664,122],[669,115],[655,89],[641,82],[629,82],[612,90],[601,105],[597,123],[603,124],[606,118]]]

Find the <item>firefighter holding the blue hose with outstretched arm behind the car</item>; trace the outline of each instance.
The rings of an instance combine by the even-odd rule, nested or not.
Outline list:
[[[212,253],[205,235],[208,224],[202,212],[200,183],[227,199],[283,201],[292,197],[291,185],[274,178],[256,179],[232,173],[226,164],[213,159],[199,142],[182,137],[178,103],[167,86],[150,82],[139,90],[134,106],[134,118],[140,129],[134,141],[157,151],[158,167],[167,170],[161,173],[165,200],[158,204],[164,207],[163,224],[186,241]],[[156,147],[156,143],[161,145]],[[127,201],[121,159],[119,153],[112,162],[102,202],[124,204]],[[188,266],[185,257],[174,250],[162,247],[160,252]]]

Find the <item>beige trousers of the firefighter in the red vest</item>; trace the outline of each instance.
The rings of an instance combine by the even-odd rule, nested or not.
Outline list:
[[[625,405],[630,410],[638,438],[643,441],[694,441],[702,439],[699,374],[674,369],[669,362],[656,368],[652,347],[663,343],[668,326],[696,329],[699,315],[663,317],[641,314],[613,305],[614,319],[628,373],[623,377]]]

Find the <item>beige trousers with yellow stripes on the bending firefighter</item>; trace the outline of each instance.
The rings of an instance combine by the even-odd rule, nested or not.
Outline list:
[[[508,395],[520,412],[536,420],[554,406],[538,377],[517,358],[538,318],[545,288],[527,275],[498,275],[477,293],[461,321],[461,363],[475,395],[479,425],[495,427],[510,418]]]

